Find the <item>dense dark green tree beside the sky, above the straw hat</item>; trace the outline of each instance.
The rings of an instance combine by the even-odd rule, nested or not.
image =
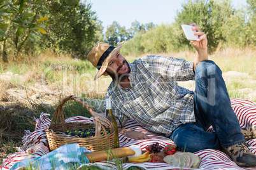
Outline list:
[[[47,29],[49,34],[39,39],[39,49],[51,48],[84,59],[101,40],[103,27],[86,1],[46,0],[44,8],[42,13],[49,16],[52,26]]]

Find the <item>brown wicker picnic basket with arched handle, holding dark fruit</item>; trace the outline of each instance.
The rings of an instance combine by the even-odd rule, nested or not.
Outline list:
[[[75,100],[85,106],[85,108],[87,108],[92,117],[94,117],[95,121],[92,123],[66,123],[63,114],[63,105],[68,100]],[[68,130],[75,131],[78,129],[87,129],[94,127],[96,127],[95,137],[78,138],[75,136],[64,134]],[[108,129],[110,133],[107,133],[106,129]],[[89,105],[89,103],[83,101],[76,96],[67,96],[66,98],[64,98],[64,100],[62,100],[62,102],[53,114],[50,126],[46,128],[45,131],[48,145],[51,151],[69,143],[78,143],[80,147],[86,147],[88,150],[91,151],[114,148],[115,129],[111,125],[111,122],[108,121],[108,119],[106,119],[106,117],[104,117],[103,115],[94,112],[94,109]],[[101,131],[103,131],[103,136],[101,136]]]

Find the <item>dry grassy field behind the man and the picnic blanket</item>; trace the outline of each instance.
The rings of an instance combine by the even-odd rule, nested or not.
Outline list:
[[[145,54],[146,55],[146,54]],[[193,60],[194,53],[160,54]],[[222,49],[210,55],[222,69],[229,95],[256,102],[256,51]],[[127,56],[132,62],[138,57]],[[97,69],[88,61],[54,56],[48,52],[29,61],[1,63],[0,66],[0,164],[6,155],[21,145],[24,130],[34,131],[34,117],[41,112],[53,114],[60,100],[76,95],[89,102],[96,112],[103,112],[104,93],[109,77],[93,81]],[[179,82],[194,89],[194,82]],[[90,117],[82,105],[69,101],[64,107],[66,118],[74,115]]]

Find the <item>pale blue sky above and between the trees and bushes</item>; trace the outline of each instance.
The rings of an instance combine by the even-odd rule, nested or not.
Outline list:
[[[185,0],[87,0],[92,4],[92,11],[96,11],[98,20],[103,22],[104,30],[113,21],[118,22],[126,29],[137,20],[139,23],[153,22],[156,25],[174,22],[176,11],[181,10]],[[236,8],[241,4],[246,5],[246,0],[232,0]],[[189,24],[189,23],[187,23]]]

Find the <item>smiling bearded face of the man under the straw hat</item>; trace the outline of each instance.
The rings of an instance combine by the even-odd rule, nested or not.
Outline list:
[[[106,72],[108,75],[110,75],[113,81],[122,81],[129,75],[131,68],[129,67],[124,56],[117,52],[111,57]]]

